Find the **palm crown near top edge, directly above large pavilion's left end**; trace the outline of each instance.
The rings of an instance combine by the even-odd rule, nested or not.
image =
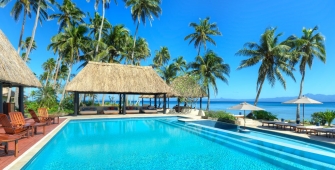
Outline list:
[[[83,18],[85,18],[85,13],[76,7],[76,4],[74,4],[71,0],[64,0],[62,5],[56,2],[55,5],[60,13],[50,15],[49,19],[58,18],[58,32],[71,25],[71,22],[84,23]]]

